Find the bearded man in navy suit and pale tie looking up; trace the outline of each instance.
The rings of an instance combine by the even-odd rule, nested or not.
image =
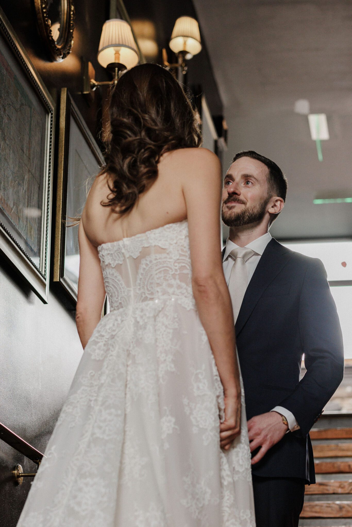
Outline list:
[[[270,236],[287,181],[253,151],[225,176],[230,227],[223,269],[242,370],[257,527],[297,527],[305,484],[315,483],[309,431],[340,384],[343,340],[321,261]],[[306,375],[300,380],[302,355]]]

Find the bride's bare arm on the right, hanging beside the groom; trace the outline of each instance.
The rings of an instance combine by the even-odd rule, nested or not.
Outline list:
[[[225,395],[222,446],[240,432],[241,387],[235,353],[232,305],[221,259],[221,164],[205,149],[192,150],[183,192],[187,208],[193,293]],[[226,432],[227,431],[227,432]]]

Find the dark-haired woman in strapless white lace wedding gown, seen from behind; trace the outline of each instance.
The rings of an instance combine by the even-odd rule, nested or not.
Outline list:
[[[18,527],[253,527],[220,162],[155,64],[122,75],[110,124],[79,227],[84,353]]]

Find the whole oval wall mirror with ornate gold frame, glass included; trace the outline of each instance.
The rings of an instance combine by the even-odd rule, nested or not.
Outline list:
[[[34,0],[39,33],[54,61],[71,53],[74,30],[72,0]]]

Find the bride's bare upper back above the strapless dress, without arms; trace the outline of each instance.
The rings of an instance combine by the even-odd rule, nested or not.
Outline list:
[[[129,238],[187,218],[184,196],[185,180],[192,177],[193,165],[218,163],[215,155],[205,149],[187,148],[167,152],[158,163],[158,177],[142,194],[135,207],[121,216],[111,207],[103,207],[109,194],[109,174],[94,181],[85,205],[82,222],[84,231],[94,246]],[[214,167],[215,168],[215,167]],[[195,175],[196,177],[196,175]],[[217,177],[214,174],[214,180]]]

